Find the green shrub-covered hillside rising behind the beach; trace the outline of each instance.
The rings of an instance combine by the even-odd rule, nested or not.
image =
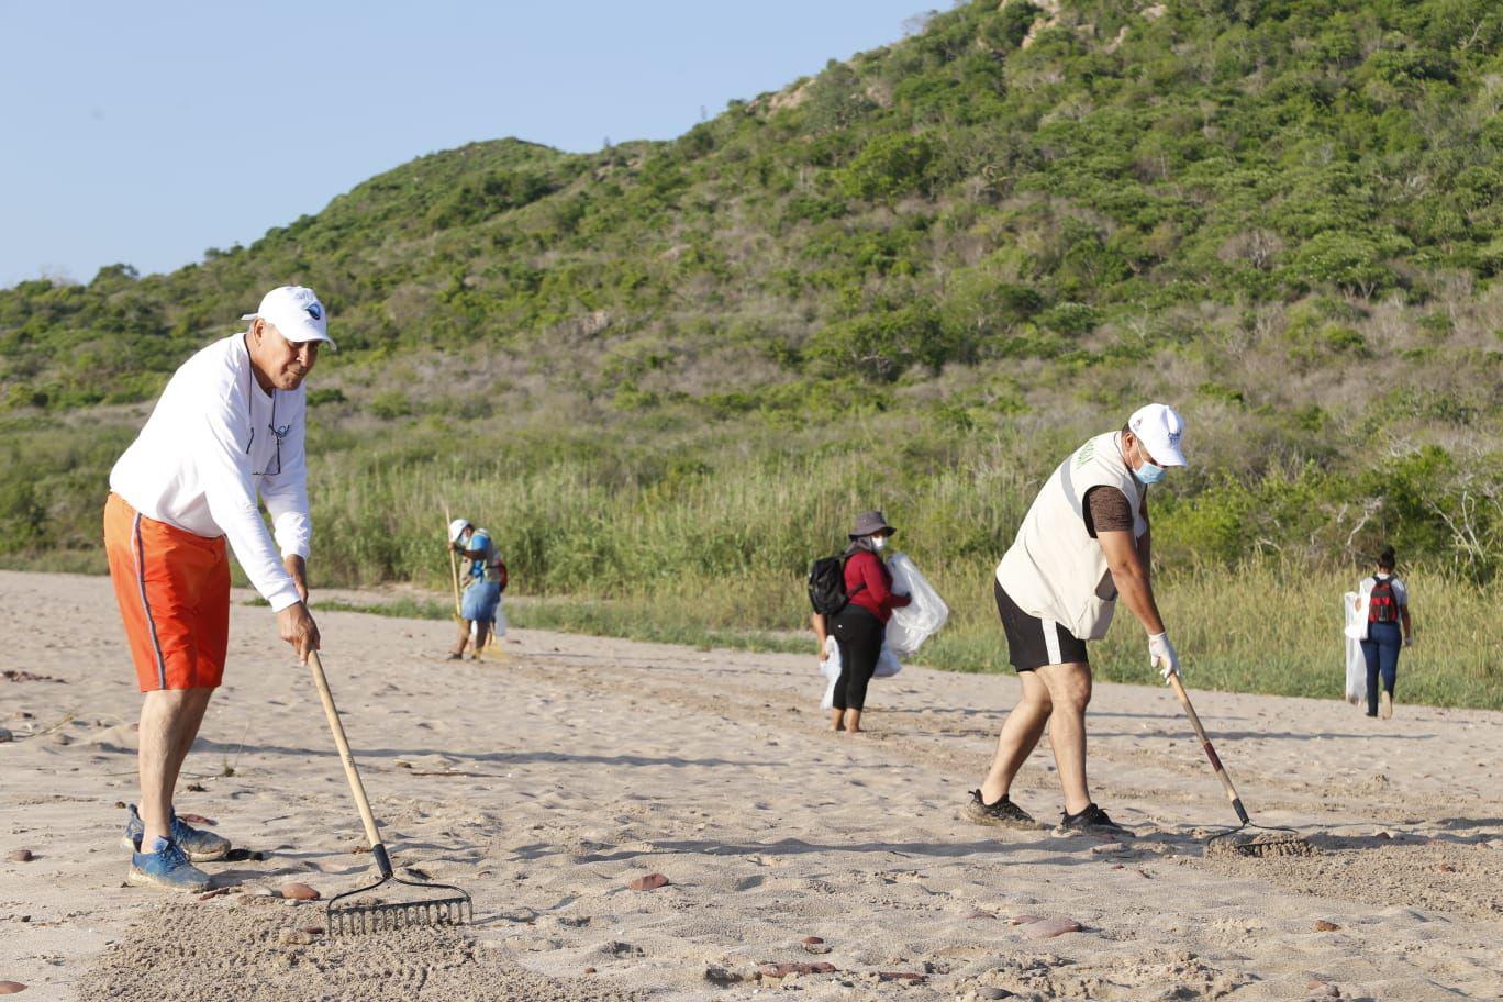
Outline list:
[[[0,562],[98,566],[138,403],[296,281],[341,346],[340,580],[445,572],[424,533],[463,497],[537,593],[788,625],[869,503],[971,589],[1030,485],[1162,398],[1195,461],[1168,568],[1387,539],[1491,581],[1500,44],[1489,0],[978,2],[670,143],[476,143],[170,275],[0,290]],[[776,598],[696,590],[724,581]]]

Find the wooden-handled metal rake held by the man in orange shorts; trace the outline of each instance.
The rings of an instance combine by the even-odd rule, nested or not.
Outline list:
[[[355,807],[361,811],[361,822],[365,825],[365,838],[371,846],[371,856],[380,871],[376,883],[355,888],[329,898],[325,913],[331,936],[352,936],[359,933],[382,933],[397,928],[418,928],[434,925],[463,925],[475,918],[470,895],[449,883],[421,883],[403,880],[391,868],[391,856],[382,844],[380,831],[376,828],[376,817],[371,814],[370,799],[365,796],[365,784],[355,768],[355,756],[350,754],[350,742],[344,736],[344,724],[340,721],[340,711],[334,706],[334,694],[329,691],[329,679],[323,675],[323,662],[319,652],[308,652],[308,667],[313,670],[313,684],[319,688],[319,699],[323,702],[323,715],[329,718],[329,730],[334,732],[334,744],[340,750],[340,760],[344,763],[344,775],[350,781],[350,793],[355,795]],[[428,895],[409,901],[386,901],[370,898],[365,901],[349,901],[356,895],[370,894],[386,883],[401,883],[425,892],[443,891],[440,895]],[[341,904],[344,901],[344,904]]]

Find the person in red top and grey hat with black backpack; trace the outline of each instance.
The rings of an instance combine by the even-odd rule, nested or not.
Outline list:
[[[830,730],[840,730],[843,726],[848,735],[861,733],[866,687],[872,682],[876,659],[882,653],[887,620],[893,617],[894,608],[912,601],[908,595],[893,593],[893,572],[881,556],[894,532],[897,530],[887,524],[882,512],[869,511],[855,520],[855,527],[848,533],[851,545],[842,557],[846,602],[827,617],[840,649],[840,678],[836,679]]]

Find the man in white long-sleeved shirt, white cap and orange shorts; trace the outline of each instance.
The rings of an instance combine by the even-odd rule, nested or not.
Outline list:
[[[141,807],[129,808],[125,835],[135,885],[201,891],[209,877],[192,862],[230,850],[173,810],[177,774],[224,678],[225,541],[298,658],[319,647],[307,607],[313,532],[302,383],[320,343],[334,343],[323,303],[308,288],[274,288],[243,318],[248,330],[210,344],[173,374],[110,472],[105,553],[143,693]]]

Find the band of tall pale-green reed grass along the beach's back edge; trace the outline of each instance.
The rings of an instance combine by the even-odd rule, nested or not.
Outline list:
[[[496,533],[519,593],[561,599],[519,607],[517,625],[813,650],[812,638],[786,634],[809,619],[804,572],[843,545],[858,511],[882,506],[900,529],[896,547],[953,607],[917,662],[1009,670],[990,580],[1036,485],[1001,461],[1006,443],[995,452],[924,476],[894,476],[872,454],[845,452],[748,458],[651,484],[568,458],[534,470],[403,461],[329,478],[314,517],[341,541],[329,563],[343,583],[442,587],[448,503]],[[1156,592],[1192,685],[1341,699],[1341,596],[1366,569],[1279,559],[1228,568],[1187,556],[1157,560]],[[1419,643],[1401,658],[1399,699],[1503,708],[1497,596],[1425,569],[1407,580]],[[1093,661],[1103,679],[1157,682],[1126,610]]]

